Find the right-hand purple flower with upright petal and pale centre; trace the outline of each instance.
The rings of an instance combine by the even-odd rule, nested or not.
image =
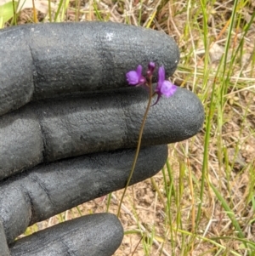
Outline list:
[[[155,92],[158,95],[156,99],[156,103],[158,102],[158,100],[161,98],[162,95],[168,98],[172,96],[177,90],[176,85],[174,85],[172,82],[169,82],[168,80],[165,80],[165,79],[166,79],[165,69],[163,66],[161,66],[158,69],[158,82],[156,84],[156,89],[155,89]],[[154,103],[154,105],[156,105],[156,103]]]

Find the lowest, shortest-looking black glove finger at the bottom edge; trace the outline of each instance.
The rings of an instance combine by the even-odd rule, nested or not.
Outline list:
[[[21,238],[10,245],[10,255],[111,256],[122,238],[122,224],[114,214],[96,213]]]

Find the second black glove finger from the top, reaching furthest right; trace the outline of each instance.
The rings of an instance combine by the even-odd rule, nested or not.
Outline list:
[[[143,88],[43,100],[0,118],[0,179],[40,162],[137,145],[148,94]],[[201,128],[204,110],[190,91],[178,88],[152,106],[142,145],[188,139]]]

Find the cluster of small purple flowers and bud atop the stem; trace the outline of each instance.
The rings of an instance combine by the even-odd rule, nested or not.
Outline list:
[[[135,71],[129,71],[126,74],[127,82],[132,86],[151,86],[151,78],[153,75],[153,71],[155,70],[155,63],[150,62],[148,65],[148,70],[146,72],[147,79],[142,75],[143,68],[141,65],[138,65]],[[167,98],[172,96],[177,90],[177,86],[172,82],[166,80],[165,69],[161,66],[158,69],[158,82],[156,83],[156,88],[154,94],[157,94],[157,100],[160,100],[161,96],[166,96]],[[153,95],[154,95],[153,94]],[[156,103],[154,105],[156,105]]]

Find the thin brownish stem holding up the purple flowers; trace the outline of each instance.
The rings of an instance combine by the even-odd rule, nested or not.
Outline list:
[[[145,125],[145,122],[146,122],[146,119],[147,119],[147,116],[148,116],[148,113],[149,113],[149,110],[150,110],[150,104],[151,104],[151,100],[152,100],[152,96],[153,96],[152,95],[152,82],[151,82],[151,80],[152,79],[150,77],[150,82],[149,82],[150,96],[149,96],[148,104],[147,104],[147,107],[146,107],[146,111],[144,113],[144,119],[143,119],[142,125],[141,125],[140,130],[139,130],[139,141],[138,141],[138,145],[137,145],[137,148],[136,148],[135,156],[133,157],[132,168],[131,168],[130,174],[128,176],[128,179],[127,179],[127,184],[126,184],[125,189],[124,189],[124,191],[122,193],[122,199],[121,199],[121,202],[120,202],[120,205],[119,205],[119,208],[118,208],[118,212],[117,212],[117,217],[118,218],[120,217],[121,208],[122,208],[122,202],[123,202],[124,196],[126,194],[127,187],[128,187],[128,185],[130,183],[130,180],[132,179],[133,171],[134,171],[134,168],[136,166],[136,162],[137,162],[137,159],[138,159],[138,156],[139,156],[142,136],[143,136],[143,133],[144,133],[144,125]]]

